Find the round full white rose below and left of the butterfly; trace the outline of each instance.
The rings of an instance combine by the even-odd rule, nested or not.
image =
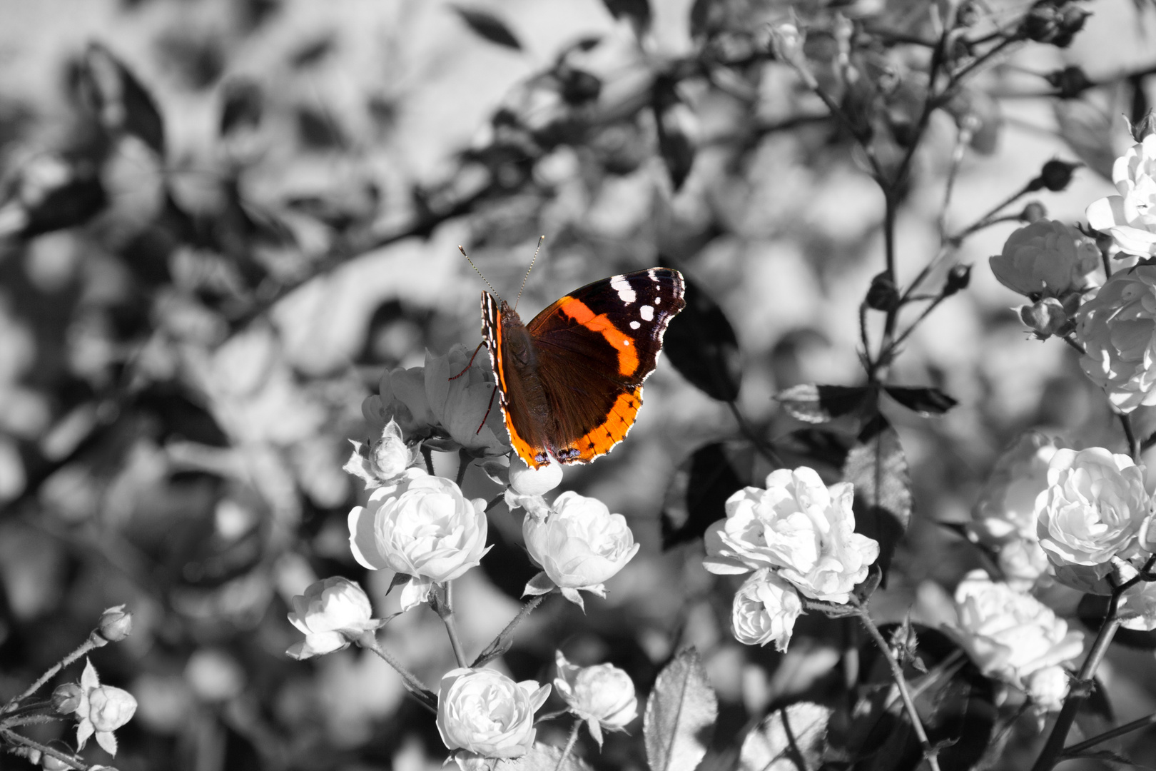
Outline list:
[[[349,548],[370,570],[410,576],[401,593],[408,610],[435,583],[458,578],[481,562],[486,548],[486,501],[466,498],[451,480],[407,469],[378,488],[365,506],[349,512]]]

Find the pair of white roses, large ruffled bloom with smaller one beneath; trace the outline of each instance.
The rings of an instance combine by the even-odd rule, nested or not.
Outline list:
[[[713,573],[755,571],[734,599],[736,638],[786,650],[802,610],[796,593],[850,600],[879,558],[879,543],[854,532],[853,496],[850,483],[828,488],[803,466],[771,472],[766,489],[748,487],[727,499],[726,519],[706,531],[704,564]]]

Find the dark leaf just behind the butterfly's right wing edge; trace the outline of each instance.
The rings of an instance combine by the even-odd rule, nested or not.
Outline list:
[[[687,306],[667,327],[662,350],[699,391],[719,401],[734,401],[742,379],[734,327],[698,284],[690,279],[686,282]]]

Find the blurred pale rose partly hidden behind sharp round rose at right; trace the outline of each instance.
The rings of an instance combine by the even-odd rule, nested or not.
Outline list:
[[[995,555],[1005,580],[1027,590],[1047,571],[1036,535],[1036,498],[1047,489],[1047,464],[1062,446],[1027,431],[1001,454],[968,522],[968,538]]]

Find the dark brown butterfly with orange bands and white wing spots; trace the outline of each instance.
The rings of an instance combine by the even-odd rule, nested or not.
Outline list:
[[[551,455],[590,462],[627,436],[683,291],[682,275],[669,268],[610,276],[529,324],[482,292],[482,336],[510,443],[526,465],[544,466]]]

